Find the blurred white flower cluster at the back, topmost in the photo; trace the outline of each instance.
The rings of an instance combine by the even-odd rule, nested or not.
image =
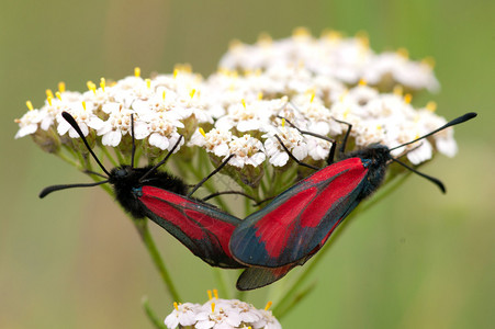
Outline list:
[[[315,38],[307,30],[296,29],[292,37],[279,41],[263,35],[255,45],[236,42],[220,66],[251,71],[303,66],[315,76],[333,77],[347,84],[364,79],[382,90],[391,90],[395,84],[408,90],[439,89],[431,60],[409,60],[404,49],[376,54],[370,48],[367,36],[345,38],[335,31]]]

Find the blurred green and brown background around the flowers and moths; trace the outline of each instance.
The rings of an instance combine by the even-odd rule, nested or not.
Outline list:
[[[87,80],[120,79],[135,66],[148,76],[191,63],[207,76],[230,39],[280,38],[296,26],[316,35],[365,30],[376,52],[434,56],[442,90],[416,101],[436,100],[448,118],[480,116],[458,127],[458,157],[423,168],[448,194],[412,177],[349,223],[284,328],[493,328],[494,1],[2,0],[0,8],[0,328],[150,328],[140,298],[160,317],[173,302],[103,191],[37,198],[46,185],[87,179],[30,138],[13,139],[25,101],[40,106],[60,80],[81,91]],[[214,282],[207,265],[153,232],[184,298],[205,302]],[[265,294],[249,300],[263,307]]]

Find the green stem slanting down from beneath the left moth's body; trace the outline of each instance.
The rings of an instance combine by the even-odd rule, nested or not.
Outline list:
[[[181,302],[182,299],[179,296],[179,293],[176,290],[176,285],[172,282],[172,279],[167,270],[167,266],[165,265],[165,262],[161,260],[161,256],[156,248],[155,241],[153,240],[151,235],[149,234],[147,219],[133,219],[133,223],[139,232],[139,236],[145,243],[146,249],[148,250],[149,256],[151,257],[151,260],[158,270],[158,273],[160,273],[161,280],[164,281],[165,286],[168,290],[168,293],[172,296],[173,300]]]

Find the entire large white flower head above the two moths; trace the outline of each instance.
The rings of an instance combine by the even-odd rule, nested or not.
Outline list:
[[[342,61],[352,65],[359,61],[361,70],[334,73],[329,69],[334,64],[322,63],[327,57],[340,58],[340,61],[328,59],[339,69],[350,70],[351,65]],[[376,81],[367,76],[371,73],[364,75],[375,70],[371,66],[375,59],[371,58],[381,58],[382,63],[393,56],[373,55],[368,44],[364,47],[362,37],[342,39],[330,34],[315,39],[300,33],[280,42],[263,39],[256,46],[235,47],[224,56],[221,64],[224,67],[243,64],[240,67],[245,69],[255,69],[243,73],[220,69],[203,80],[188,67],[181,67],[173,75],[151,79],[140,78],[137,71],[109,86],[102,79],[100,88],[88,82],[89,90],[83,93],[68,92],[65,88],[59,88],[55,95],[47,92],[44,106],[34,110],[29,103],[30,111],[16,120],[20,129],[15,137],[36,137],[53,129],[58,137],[68,133],[69,137],[77,138],[74,128],[60,115],[67,111],[85,135],[101,136],[98,138],[103,146],[116,147],[128,136],[131,114],[134,114],[134,137],[144,140],[146,154],[170,150],[182,135],[189,147],[204,148],[220,159],[235,155],[230,166],[255,168],[266,160],[275,167],[288,163],[289,155],[275,135],[296,159],[312,162],[326,159],[331,144],[302,131],[341,140],[348,125],[339,121],[346,122],[352,125],[349,145],[357,149],[372,143],[395,147],[446,123],[434,113],[434,103],[414,109],[410,94],[404,94],[402,86],[382,93],[361,80],[349,88],[346,83],[362,77],[368,78],[368,82]],[[386,63],[394,66],[395,61]],[[421,64],[404,63],[418,66],[410,72],[424,70],[419,69]],[[387,66],[382,63],[380,67]],[[397,69],[400,71],[409,72],[405,68]],[[352,79],[347,79],[346,75]],[[404,75],[410,80],[397,79],[397,83],[412,87],[426,79]],[[431,71],[428,77],[435,79]],[[393,155],[407,152],[409,161],[418,164],[430,159],[434,150],[447,156],[455,154],[452,129],[396,149]]]

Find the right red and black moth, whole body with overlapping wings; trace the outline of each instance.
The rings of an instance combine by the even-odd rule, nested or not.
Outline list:
[[[249,266],[275,270],[263,273],[248,269],[237,281],[237,288],[252,290],[268,285],[283,277],[294,266],[304,264],[325,245],[349,213],[376,191],[392,161],[430,180],[445,192],[439,180],[393,158],[391,150],[427,138],[475,116],[476,113],[466,113],[413,141],[394,148],[381,144],[370,145],[342,155],[342,160],[331,163],[336,147],[334,144],[329,166],[278,195],[265,208],[244,219],[234,230],[229,248],[236,260]],[[340,149],[342,154],[349,132],[350,125]],[[286,148],[285,150],[289,152]]]

